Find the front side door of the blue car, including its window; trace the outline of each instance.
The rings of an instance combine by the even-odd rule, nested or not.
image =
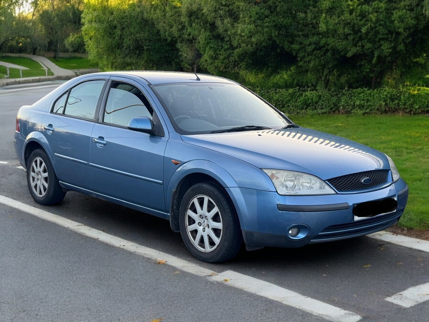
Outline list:
[[[127,128],[133,117],[152,119],[154,109],[131,81],[112,79],[105,101],[91,134],[94,191],[165,216],[163,155],[168,139]]]

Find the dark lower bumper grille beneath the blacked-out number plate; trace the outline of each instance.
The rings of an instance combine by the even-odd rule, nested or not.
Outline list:
[[[356,222],[349,222],[347,224],[328,226],[320,231],[317,236],[314,236],[310,243],[321,243],[323,241],[339,240],[370,234],[393,225],[398,221],[401,215],[402,213],[395,212],[358,220]]]

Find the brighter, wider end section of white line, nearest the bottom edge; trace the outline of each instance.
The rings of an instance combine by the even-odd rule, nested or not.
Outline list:
[[[299,293],[284,289],[272,283],[243,275],[232,270],[227,270],[209,279],[223,282],[226,285],[242,289],[243,291],[263,296],[271,300],[298,308],[315,316],[320,316],[329,321],[356,322],[362,317],[356,313],[342,310],[330,304],[326,304]]]

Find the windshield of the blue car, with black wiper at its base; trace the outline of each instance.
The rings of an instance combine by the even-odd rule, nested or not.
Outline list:
[[[180,134],[283,128],[292,124],[240,85],[175,83],[153,86]],[[234,131],[234,130],[232,130]]]

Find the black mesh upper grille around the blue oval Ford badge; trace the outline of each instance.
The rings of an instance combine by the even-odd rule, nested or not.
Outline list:
[[[386,182],[388,172],[389,170],[358,172],[347,174],[345,176],[337,176],[326,181],[329,182],[335,189],[337,189],[337,191],[359,190],[371,188]],[[367,184],[363,183],[361,181],[363,178],[370,178],[371,182]]]

